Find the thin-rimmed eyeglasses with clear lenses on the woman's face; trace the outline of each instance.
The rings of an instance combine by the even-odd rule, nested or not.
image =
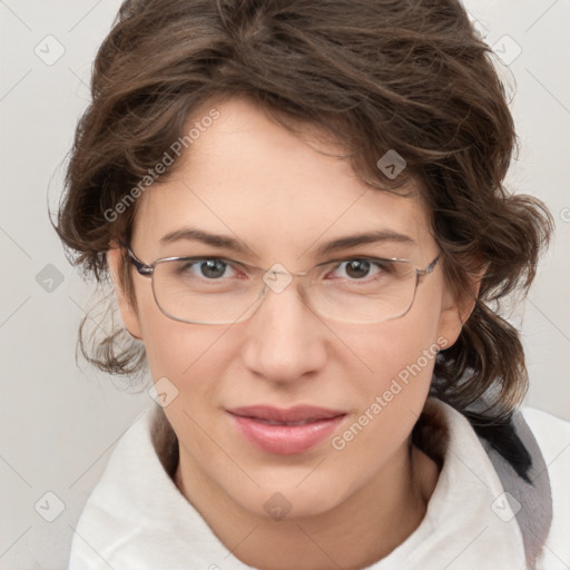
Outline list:
[[[124,247],[137,272],[151,279],[160,311],[191,324],[245,321],[268,289],[282,293],[294,277],[302,282],[302,299],[322,317],[354,324],[391,321],[410,311],[420,281],[440,258],[417,269],[407,259],[348,257],[289,273],[278,263],[264,269],[218,256],[163,257],[148,265]],[[344,275],[334,276],[338,272]]]

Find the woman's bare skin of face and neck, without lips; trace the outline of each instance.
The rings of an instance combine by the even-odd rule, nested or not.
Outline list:
[[[324,242],[377,229],[415,244],[367,244],[333,258],[410,255],[423,268],[439,254],[422,203],[371,189],[346,159],[315,151],[338,148],[314,127],[305,126],[302,140],[245,99],[216,107],[220,118],[176,174],[139,198],[131,247],[145,263],[215,254],[297,272],[328,259],[314,254]],[[187,240],[160,245],[186,226],[237,237],[258,259]],[[118,275],[118,249],[108,259]],[[343,410],[347,416],[334,435],[344,432],[422,351],[438,340],[448,347],[455,342],[472,306],[452,298],[440,266],[422,281],[405,316],[366,325],[315,315],[296,282],[269,292],[245,322],[185,324],[159,311],[150,279],[135,271],[132,279],[136,303],[115,279],[124,322],[145,343],[153,379],[166,376],[179,391],[165,407],[180,443],[175,482],[234,556],[272,570],[356,569],[414,531],[438,480],[435,463],[409,443],[433,360],[342,451],[328,439],[303,454],[263,452],[225,410]],[[291,503],[282,520],[264,509],[277,492]]]

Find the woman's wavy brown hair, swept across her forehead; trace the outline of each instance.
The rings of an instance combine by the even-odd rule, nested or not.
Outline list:
[[[129,240],[137,207],[112,220],[106,212],[184,136],[198,106],[247,97],[291,130],[331,132],[371,187],[404,193],[416,183],[452,291],[468,291],[484,268],[458,342],[436,358],[432,393],[461,411],[487,394],[495,420],[520,403],[522,344],[491,306],[527,292],[552,218],[503,186],[513,120],[492,52],[459,1],[127,0],[97,53],[91,92],[56,226],[97,282],[110,243]],[[407,164],[394,180],[376,166],[389,149]],[[80,334],[80,346],[112,374],[145,365],[144,346],[121,327],[102,340]]]

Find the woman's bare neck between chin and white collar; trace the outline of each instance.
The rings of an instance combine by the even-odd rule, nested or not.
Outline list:
[[[264,570],[357,569],[386,557],[422,521],[438,466],[405,445],[364,488],[334,509],[274,520],[244,509],[180,449],[175,483],[218,539],[244,563]]]

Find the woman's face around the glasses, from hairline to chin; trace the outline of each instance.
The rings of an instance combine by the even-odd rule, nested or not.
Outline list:
[[[316,153],[245,100],[217,109],[219,117],[200,129],[176,176],[139,198],[131,248],[145,263],[217,256],[295,273],[370,256],[410,258],[423,268],[438,256],[416,199],[364,186],[347,159]],[[338,154],[323,140],[315,142],[318,149]],[[188,229],[237,240],[245,252],[189,239],[183,235]],[[406,239],[317,254],[328,242],[376,232]],[[110,262],[116,268],[116,250]],[[132,278],[136,308],[121,297],[122,316],[144,341],[153,379],[167,393],[165,413],[179,440],[180,464],[262,515],[279,509],[322,513],[396,472],[428,394],[435,351],[453,344],[461,327],[440,266],[421,281],[404,316],[374,324],[315,314],[299,297],[297,281],[281,292],[268,288],[247,321],[187,324],[163,314],[150,279],[136,271]],[[271,410],[246,411],[249,420],[230,412],[249,406],[276,409],[281,424],[263,417]],[[336,419],[283,425],[283,417],[314,420],[306,416],[321,413],[278,415],[296,406],[324,409]]]

